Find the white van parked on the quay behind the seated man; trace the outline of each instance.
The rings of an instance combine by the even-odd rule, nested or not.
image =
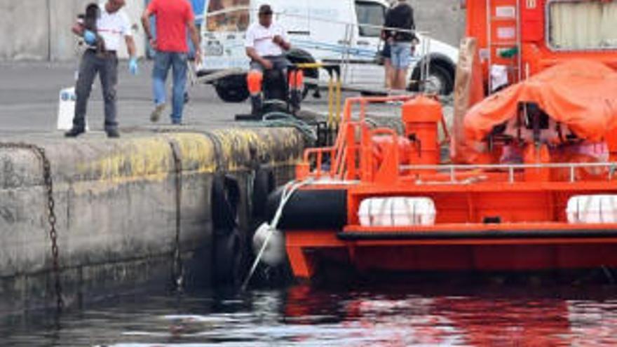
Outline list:
[[[388,2],[385,0],[209,0],[201,29],[203,68],[201,74],[224,69],[246,70],[245,31],[257,20],[257,8],[269,4],[274,20],[290,36],[292,62],[344,63],[346,85],[383,88],[384,67],[377,57],[383,46],[379,39]],[[364,26],[363,26],[364,25]],[[374,26],[374,27],[372,27]],[[418,35],[420,44],[409,69],[410,81],[420,79],[420,62],[428,61],[428,80],[442,94],[452,93],[458,50],[435,39]],[[428,48],[428,55],[421,47]],[[325,72],[308,71],[309,77],[325,78]],[[217,94],[227,102],[248,97],[245,74],[214,82]]]

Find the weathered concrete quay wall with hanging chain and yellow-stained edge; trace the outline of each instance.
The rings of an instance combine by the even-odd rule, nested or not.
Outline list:
[[[292,178],[304,147],[291,129],[169,132],[118,141],[41,140],[53,172],[62,291],[67,304],[170,282],[175,250],[176,173],[182,165],[180,248],[190,278],[212,268],[210,189],[217,172],[237,179],[242,203],[255,163]],[[0,148],[0,312],[55,303],[41,163]],[[247,210],[240,207],[240,224]]]

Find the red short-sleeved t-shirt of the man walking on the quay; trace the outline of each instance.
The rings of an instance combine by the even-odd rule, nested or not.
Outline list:
[[[156,16],[156,49],[187,53],[187,24],[195,20],[189,1],[152,0],[148,11]]]

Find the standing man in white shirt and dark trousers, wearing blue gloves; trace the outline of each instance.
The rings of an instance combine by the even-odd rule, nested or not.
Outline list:
[[[92,84],[97,74],[99,74],[105,111],[105,132],[108,137],[119,137],[118,122],[116,121],[116,85],[118,84],[118,57],[117,50],[120,48],[121,39],[126,41],[128,54],[130,55],[129,71],[137,74],[137,57],[135,57],[135,42],[130,29],[128,16],[122,10],[125,0],[107,0],[101,2],[100,17],[96,21],[96,32],[76,25],[73,32],[83,36],[83,40],[88,44],[88,49],[81,57],[79,64],[79,78],[75,86],[75,116],[73,118],[73,128],[69,130],[66,137],[77,137],[86,129],[86,107],[88,97],[92,90]],[[102,40],[103,45],[97,45],[97,41]],[[100,47],[104,50],[100,51]]]

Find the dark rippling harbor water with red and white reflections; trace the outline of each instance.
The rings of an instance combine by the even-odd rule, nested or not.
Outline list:
[[[617,346],[615,285],[305,285],[131,294],[0,326],[1,346]]]

